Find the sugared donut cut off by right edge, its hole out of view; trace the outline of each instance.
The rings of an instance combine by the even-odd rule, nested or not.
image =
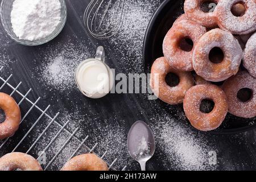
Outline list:
[[[256,33],[246,43],[243,55],[243,66],[251,76],[256,78]]]

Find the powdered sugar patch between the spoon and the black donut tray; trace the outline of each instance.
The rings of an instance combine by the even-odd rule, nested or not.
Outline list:
[[[153,126],[156,133],[156,143],[160,150],[156,155],[166,155],[168,168],[175,170],[213,170],[216,165],[209,164],[208,152],[213,149],[207,141],[191,127],[175,119],[156,116],[151,118],[158,123]],[[163,161],[164,162],[164,161]]]

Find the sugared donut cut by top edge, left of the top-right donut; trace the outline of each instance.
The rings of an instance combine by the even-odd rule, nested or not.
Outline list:
[[[217,26],[217,18],[214,13],[214,6],[219,0],[213,0],[214,5],[212,10],[204,12],[201,8],[205,0],[186,0],[184,3],[185,15],[188,19],[193,20],[204,27],[215,27]],[[209,5],[210,6],[210,5]]]

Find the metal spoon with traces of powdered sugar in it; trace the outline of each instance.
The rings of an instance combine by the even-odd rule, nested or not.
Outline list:
[[[142,171],[146,171],[146,163],[155,153],[155,136],[146,123],[137,121],[131,126],[127,147],[131,158],[141,164]]]

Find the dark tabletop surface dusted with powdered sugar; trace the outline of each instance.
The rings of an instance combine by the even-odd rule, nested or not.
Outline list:
[[[132,26],[138,25],[138,22],[134,25],[131,24],[131,39],[129,35],[119,32],[115,38],[111,40],[96,40],[92,38],[84,24],[82,23],[82,15],[84,9],[89,1],[86,0],[68,0],[68,19],[64,27],[57,38],[51,42],[37,47],[26,47],[16,44],[11,41],[0,28],[0,65],[4,68],[1,71],[1,76],[7,78],[10,73],[13,74],[10,82],[13,85],[17,85],[19,81],[22,81],[20,86],[20,92],[27,92],[29,88],[32,88],[32,93],[28,96],[32,101],[41,97],[39,106],[45,109],[47,105],[51,105],[47,111],[50,115],[55,115],[57,111],[60,111],[59,122],[64,123],[71,121],[68,129],[72,132],[79,127],[77,132],[77,138],[83,139],[86,135],[89,135],[89,139],[86,141],[86,145],[92,147],[96,142],[98,146],[95,148],[95,152],[102,155],[105,150],[108,151],[105,159],[111,163],[115,158],[118,158],[117,163],[114,164],[116,169],[122,169],[127,165],[127,169],[139,169],[137,163],[130,159],[129,154],[126,151],[126,136],[135,121],[142,120],[148,123],[156,134],[156,152],[154,157],[147,163],[147,169],[150,170],[172,170],[172,169],[218,169],[218,170],[250,170],[256,169],[256,131],[249,131],[237,135],[213,135],[208,133],[199,133],[188,123],[179,123],[179,118],[184,117],[182,106],[168,106],[163,104],[159,100],[148,100],[147,94],[108,94],[108,96],[99,100],[91,100],[82,96],[79,90],[75,86],[75,82],[68,85],[54,85],[51,81],[47,81],[47,77],[44,74],[45,65],[50,63],[48,59],[56,57],[58,52],[62,52],[63,49],[73,47],[71,51],[64,52],[65,56],[70,54],[72,56],[72,50],[80,53],[83,56],[73,57],[72,59],[84,59],[85,57],[94,56],[94,52],[97,46],[104,46],[106,49],[106,62],[111,68],[115,68],[117,73],[142,73],[142,40],[146,27],[142,27],[142,30],[138,32],[136,28]],[[141,6],[144,11],[147,11],[147,22],[150,20],[150,15],[154,13],[159,6],[159,1],[146,0],[146,1],[134,1],[137,6]],[[150,6],[152,4],[152,6]],[[149,5],[149,6],[147,6]],[[147,10],[146,10],[147,9]],[[143,11],[142,11],[143,12]],[[131,17],[136,18],[136,16]],[[129,19],[129,18],[127,18]],[[144,19],[141,19],[145,21]],[[139,21],[139,20],[138,20]],[[146,23],[147,23],[146,22]],[[145,22],[143,24],[146,24]],[[121,28],[122,30],[122,28]],[[126,30],[127,31],[127,30]],[[134,34],[142,34],[133,36]],[[136,40],[133,38],[136,38]],[[74,48],[75,47],[75,48]],[[131,49],[130,47],[134,47]],[[137,49],[135,49],[137,48]],[[84,51],[84,52],[83,52]],[[83,53],[82,53],[83,52]],[[71,59],[71,60],[72,60]],[[82,61],[82,60],[81,60]],[[71,75],[74,72],[73,67],[65,70],[70,72]],[[65,89],[65,86],[67,89]],[[61,89],[60,89],[61,87]],[[11,90],[5,86],[2,92],[10,93]],[[14,94],[17,100],[20,97]],[[26,113],[29,108],[29,104],[21,105],[22,113]],[[28,128],[32,126],[35,119],[38,118],[38,111],[34,111],[29,114],[27,119],[24,120],[20,126],[20,130],[14,135],[13,138],[1,148],[0,154],[6,154],[10,152],[18,143]],[[35,130],[31,131],[24,142],[17,148],[16,151],[27,151],[29,146],[35,141],[36,137],[40,134],[40,131],[48,123],[48,119],[42,118]],[[204,158],[203,162],[192,161],[191,164],[186,164],[187,160],[193,160],[193,154],[188,154],[188,159],[181,159],[184,155],[179,156],[177,152],[184,154],[184,152],[196,152],[193,150],[193,144],[175,139],[175,133],[172,134],[170,140],[164,137],[163,131],[167,131],[168,123],[175,125],[172,127],[172,131],[175,131],[176,125],[179,125],[177,130],[177,138],[179,135],[189,135],[188,140],[192,138],[195,140],[200,150],[205,148],[205,151],[200,152]],[[184,130],[180,130],[183,127]],[[52,134],[56,133],[56,128],[49,129],[49,133],[44,135],[41,142],[36,144],[36,150],[31,150],[29,154],[33,156],[38,155],[38,151],[42,150],[51,140]],[[183,133],[182,133],[183,132]],[[174,136],[173,136],[174,135]],[[56,143],[53,143],[53,147],[47,152],[47,161],[58,151],[58,147],[65,142],[68,135],[61,136],[61,139]],[[170,143],[175,142],[176,144]],[[62,143],[61,143],[62,142]],[[177,150],[177,146],[185,145],[180,150]],[[188,141],[189,142],[189,141]],[[65,163],[65,160],[69,158],[75,148],[77,147],[76,140],[71,140],[67,148],[64,148],[63,152],[57,156],[55,162],[52,163],[49,169],[60,169],[61,165]],[[173,146],[172,147],[168,146]],[[189,147],[189,145],[192,145]],[[195,147],[195,148],[198,148]],[[186,148],[187,147],[187,148]],[[81,148],[79,153],[85,152],[86,149]],[[188,150],[188,151],[184,151]],[[213,151],[217,154],[217,164],[208,163],[208,152]],[[205,153],[206,152],[206,153]],[[175,157],[177,155],[177,157]],[[199,157],[200,158],[200,157]],[[206,158],[206,159],[205,159]],[[195,160],[198,160],[196,158]],[[184,162],[184,164],[182,164]],[[194,166],[195,165],[195,166]],[[198,165],[204,165],[206,167],[200,167]]]

